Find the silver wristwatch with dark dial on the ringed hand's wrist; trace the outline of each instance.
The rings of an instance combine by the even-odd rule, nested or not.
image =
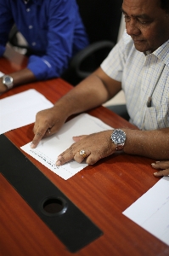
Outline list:
[[[115,143],[115,146],[116,146],[115,149],[117,151],[121,151],[124,148],[126,138],[127,138],[126,133],[121,129],[115,129],[110,136],[111,141]]]

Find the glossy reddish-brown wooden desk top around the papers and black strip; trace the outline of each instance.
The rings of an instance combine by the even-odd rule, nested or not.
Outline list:
[[[0,59],[0,71],[10,73],[25,67],[26,59],[8,50]],[[62,79],[26,84],[0,96],[10,96],[29,88],[41,92],[51,102],[71,90]],[[110,110],[100,107],[88,113],[112,127],[132,127]],[[33,124],[5,133],[18,148],[33,137]],[[123,212],[159,179],[153,176],[153,160],[132,155],[112,155],[87,166],[67,181],[26,155],[93,223],[103,230],[100,236],[76,255],[155,256],[169,255],[169,247],[125,217]],[[152,200],[155,200],[153,198]],[[46,224],[0,175],[0,255],[71,255]]]

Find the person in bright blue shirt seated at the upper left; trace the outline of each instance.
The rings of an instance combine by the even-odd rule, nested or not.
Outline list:
[[[76,0],[0,0],[0,56],[14,24],[35,54],[25,69],[0,79],[0,93],[36,79],[59,77],[70,58],[88,44]]]

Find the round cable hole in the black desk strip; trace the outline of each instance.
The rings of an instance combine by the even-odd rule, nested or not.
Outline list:
[[[42,203],[42,212],[47,215],[58,215],[65,213],[66,208],[66,202],[61,198],[51,197]]]

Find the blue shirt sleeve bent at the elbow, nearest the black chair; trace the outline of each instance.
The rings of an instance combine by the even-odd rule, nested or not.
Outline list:
[[[76,44],[75,38],[78,38],[76,26],[79,26],[79,23],[82,24],[77,14],[76,3],[72,0],[50,1],[46,54],[31,55],[28,62],[28,68],[37,79],[59,77],[68,67],[74,44]],[[81,31],[82,34],[79,34],[79,37],[82,39],[82,45],[79,45],[79,49],[88,44],[83,26]]]

